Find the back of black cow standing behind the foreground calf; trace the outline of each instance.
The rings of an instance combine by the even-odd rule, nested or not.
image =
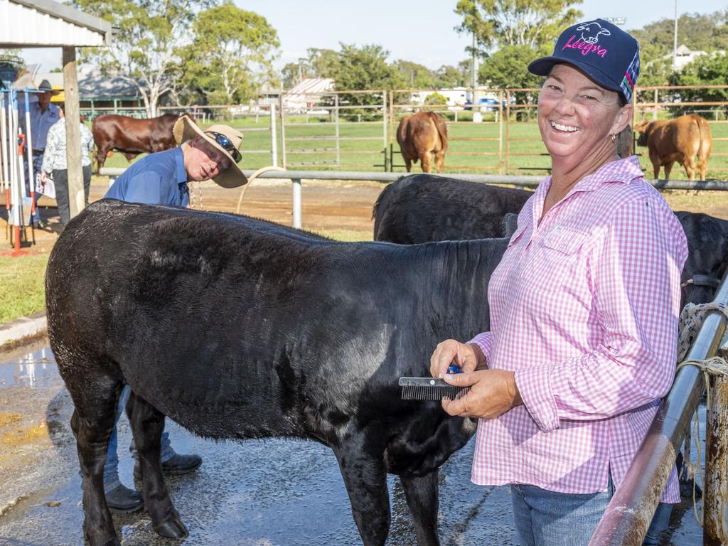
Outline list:
[[[372,214],[374,240],[412,245],[503,237],[503,218],[518,213],[531,194],[443,176],[406,176],[379,194]]]

